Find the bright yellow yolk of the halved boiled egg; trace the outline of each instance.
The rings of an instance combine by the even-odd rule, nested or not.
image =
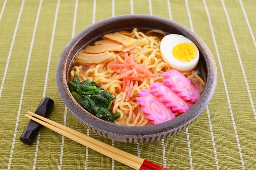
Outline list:
[[[190,62],[196,57],[197,48],[192,42],[183,42],[173,48],[172,54],[181,62]]]

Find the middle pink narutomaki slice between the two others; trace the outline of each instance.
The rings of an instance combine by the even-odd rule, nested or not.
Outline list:
[[[149,87],[152,89],[151,93],[154,94],[154,96],[157,96],[160,102],[163,102],[166,107],[172,108],[172,111],[184,113],[185,111],[189,110],[189,103],[181,99],[165,84],[156,82]]]

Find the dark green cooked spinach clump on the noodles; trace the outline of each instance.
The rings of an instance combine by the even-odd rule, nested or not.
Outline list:
[[[68,88],[72,96],[85,110],[93,115],[108,121],[113,121],[121,116],[120,113],[111,114],[109,109],[112,100],[116,99],[110,92],[104,91],[96,82],[85,80],[80,82],[75,74],[72,82],[68,82]]]

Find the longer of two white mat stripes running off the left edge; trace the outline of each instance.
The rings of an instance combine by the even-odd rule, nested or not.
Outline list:
[[[2,91],[3,91],[3,84],[4,84],[4,80],[5,80],[5,77],[6,77],[7,70],[8,70],[9,61],[10,61],[10,58],[11,58],[11,55],[12,55],[12,48],[13,48],[15,37],[16,37],[17,30],[18,30],[18,27],[19,27],[20,17],[21,17],[21,14],[22,14],[24,3],[25,3],[25,0],[22,0],[21,6],[20,6],[20,13],[19,13],[19,16],[18,16],[18,19],[17,19],[17,23],[16,23],[16,26],[15,26],[14,34],[13,34],[13,37],[12,37],[12,43],[11,43],[10,51],[9,51],[9,54],[8,54],[8,57],[7,57],[7,61],[6,61],[6,68],[4,70],[2,84],[1,84],[1,87],[0,87],[0,99],[1,99]]]

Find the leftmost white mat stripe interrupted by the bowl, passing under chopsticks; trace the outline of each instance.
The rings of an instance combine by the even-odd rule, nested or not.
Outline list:
[[[78,0],[76,0],[75,10],[74,10],[73,28],[72,28],[72,35],[71,35],[72,38],[75,36],[75,30],[76,30],[77,6],[78,6]],[[63,120],[63,125],[64,125],[64,126],[66,126],[66,119],[67,119],[67,107],[65,106],[65,110],[64,110],[64,120]],[[63,158],[63,151],[64,151],[64,139],[65,139],[65,137],[62,136],[62,139],[61,139],[60,164],[59,164],[59,167],[58,167],[59,170],[61,170],[61,167],[62,167],[62,158]]]

